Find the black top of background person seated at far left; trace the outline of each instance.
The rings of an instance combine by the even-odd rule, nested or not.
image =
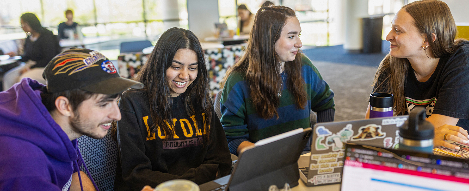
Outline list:
[[[40,50],[33,50],[33,51],[40,51],[42,58],[35,60],[36,64],[31,66],[31,68],[35,67],[45,67],[47,64],[57,55],[57,50],[59,49],[59,43],[57,42],[57,37],[53,34],[43,34],[43,38],[40,40],[39,46],[33,48],[38,48]]]

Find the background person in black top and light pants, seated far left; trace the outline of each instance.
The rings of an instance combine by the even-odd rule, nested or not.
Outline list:
[[[21,28],[28,37],[24,40],[24,54],[19,61],[26,62],[9,70],[3,76],[3,90],[7,90],[22,78],[29,77],[45,84],[42,77],[44,67],[54,58],[61,47],[57,37],[52,31],[41,26],[38,17],[32,13],[25,13],[20,17]],[[10,57],[15,56],[14,52],[8,53]]]

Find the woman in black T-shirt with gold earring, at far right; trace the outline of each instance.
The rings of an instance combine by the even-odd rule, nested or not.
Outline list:
[[[415,1],[397,12],[392,25],[386,37],[391,50],[379,64],[373,92],[392,93],[396,115],[425,106],[435,147],[456,148],[445,140],[467,143],[469,41],[454,40],[449,7],[439,0]]]

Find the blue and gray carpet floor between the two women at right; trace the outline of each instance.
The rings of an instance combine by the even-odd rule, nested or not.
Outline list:
[[[334,91],[335,121],[365,118],[371,82],[389,52],[389,42],[381,45],[381,52],[361,54],[347,53],[342,45],[302,48]]]

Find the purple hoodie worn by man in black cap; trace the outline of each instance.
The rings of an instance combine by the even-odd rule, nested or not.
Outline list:
[[[0,92],[1,191],[67,191],[84,164],[77,141],[68,139],[42,103],[43,86],[25,78]]]

